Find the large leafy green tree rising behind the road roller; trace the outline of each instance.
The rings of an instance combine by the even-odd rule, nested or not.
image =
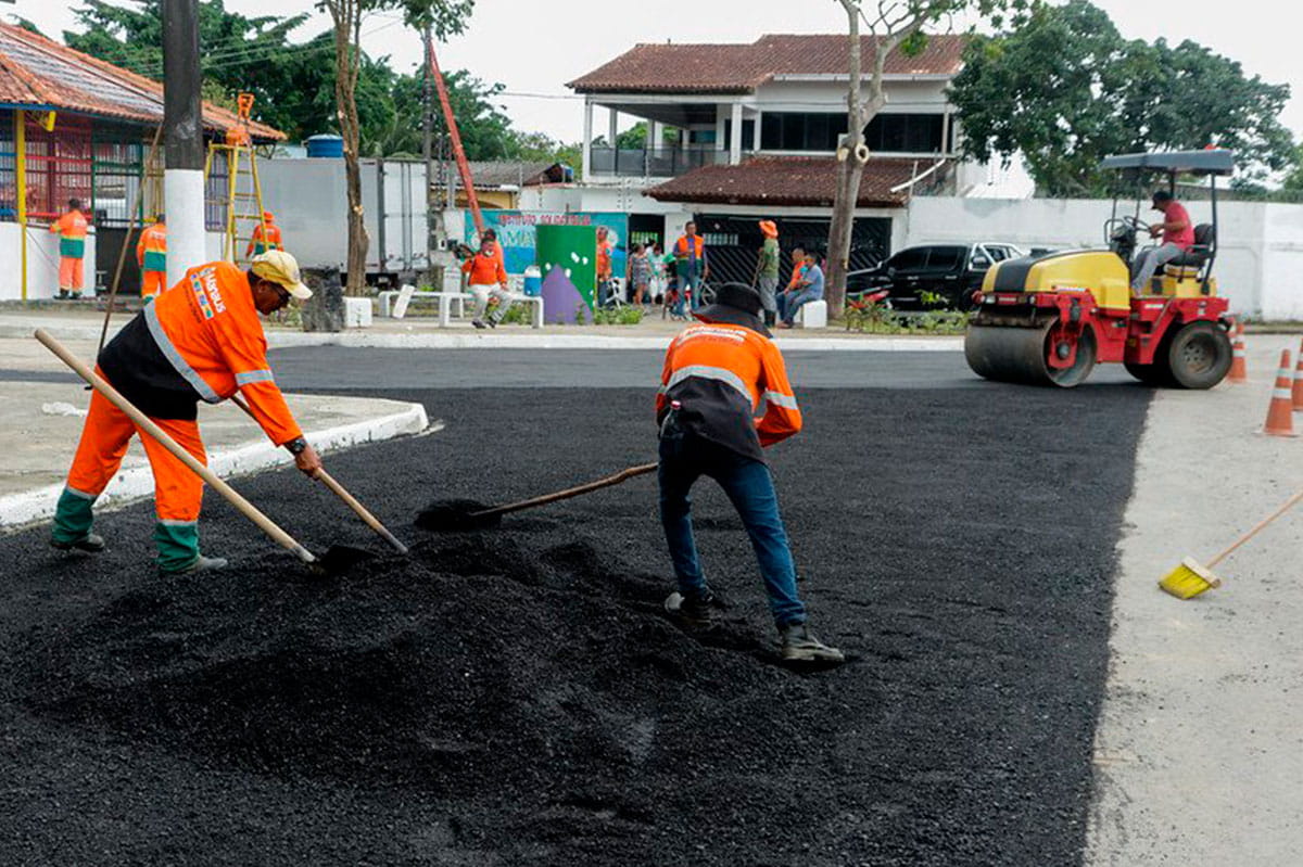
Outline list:
[[[1277,116],[1289,87],[1246,78],[1194,42],[1126,40],[1087,0],[1037,8],[1018,30],[975,38],[951,102],[963,152],[982,161],[1022,152],[1052,195],[1098,195],[1109,154],[1217,144],[1242,163],[1238,185],[1296,160]]]

